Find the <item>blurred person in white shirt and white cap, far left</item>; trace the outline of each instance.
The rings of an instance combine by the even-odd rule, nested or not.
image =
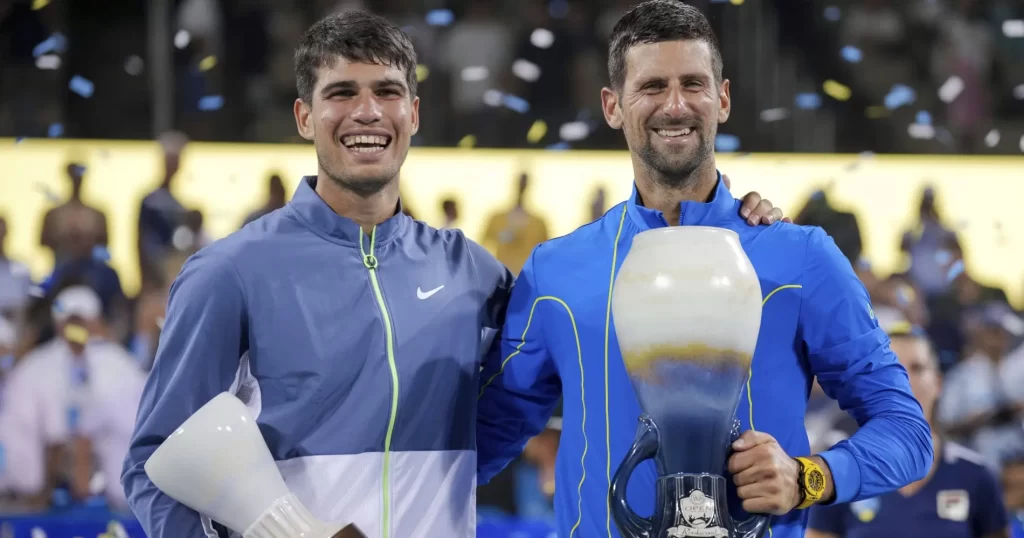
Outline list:
[[[103,338],[99,297],[70,287],[53,302],[56,336],[6,376],[0,403],[0,485],[34,508],[67,486],[75,500],[103,495],[127,509],[119,475],[145,374]]]

